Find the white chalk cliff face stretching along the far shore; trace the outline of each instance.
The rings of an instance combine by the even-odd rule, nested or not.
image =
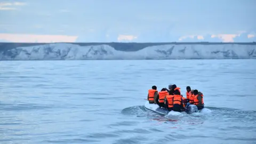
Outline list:
[[[54,43],[0,51],[0,60],[255,59],[256,45],[166,44],[118,51],[107,44]]]

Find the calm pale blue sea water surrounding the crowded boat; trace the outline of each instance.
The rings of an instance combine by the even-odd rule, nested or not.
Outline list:
[[[0,62],[0,143],[256,143],[256,60]],[[211,113],[145,110],[169,84]]]

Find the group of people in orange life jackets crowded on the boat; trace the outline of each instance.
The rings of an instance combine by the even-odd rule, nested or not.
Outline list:
[[[203,109],[203,93],[198,92],[198,90],[191,90],[190,86],[187,86],[186,89],[186,98],[184,98],[180,93],[180,87],[175,84],[169,85],[169,89],[163,88],[160,92],[157,91],[157,87],[154,85],[152,89],[148,90],[148,101],[169,111],[186,111],[189,105],[196,105],[198,110]]]

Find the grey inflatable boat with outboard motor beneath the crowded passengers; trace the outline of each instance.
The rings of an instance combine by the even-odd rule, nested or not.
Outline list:
[[[147,110],[154,111],[155,113],[158,113],[161,115],[168,115],[170,113],[170,111],[167,110],[166,108],[160,108],[157,104],[149,103],[148,101],[146,101],[145,103],[145,108]],[[198,110],[196,105],[189,105],[188,110],[186,112],[182,111],[182,113],[187,113],[187,114],[199,113],[201,110]]]

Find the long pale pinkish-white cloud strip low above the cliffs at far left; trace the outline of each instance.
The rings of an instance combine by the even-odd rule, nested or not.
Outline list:
[[[30,35],[30,34],[0,34],[0,39],[15,43],[57,43],[75,42],[78,36],[66,35]]]

